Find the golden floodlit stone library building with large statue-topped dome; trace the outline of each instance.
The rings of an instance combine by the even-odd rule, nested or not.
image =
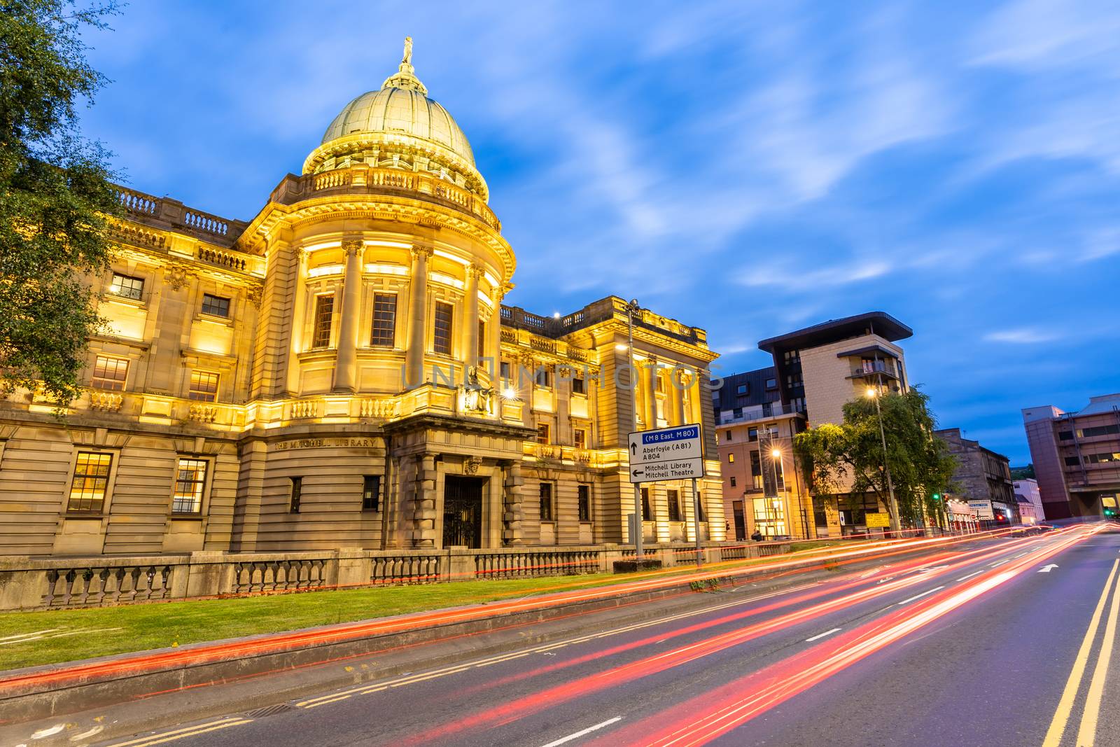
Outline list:
[[[514,252],[410,46],[251,222],[121,196],[88,387],[62,421],[0,402],[0,553],[626,542],[635,410],[703,422],[724,539],[704,332],[642,311],[632,387],[623,299],[503,306]],[[692,539],[690,484],[647,487],[647,539]]]

